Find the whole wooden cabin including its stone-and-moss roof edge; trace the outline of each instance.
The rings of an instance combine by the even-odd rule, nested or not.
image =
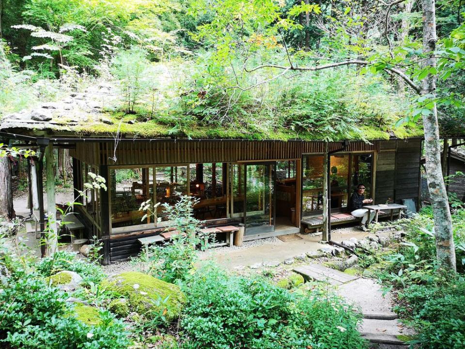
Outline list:
[[[375,204],[418,201],[421,128],[403,128],[399,138],[395,130],[379,130],[376,137],[385,139],[365,137],[370,142],[325,143],[300,139],[297,133],[287,134],[284,141],[217,139],[218,134],[208,136],[208,129],[206,136],[197,137],[203,139],[174,139],[168,127],[155,120],[109,119],[102,106],[111,101],[117,105],[118,98],[111,86],[101,84],[60,102],[8,115],[0,125],[3,140],[37,151],[34,161],[28,161],[37,174],[31,178],[37,178],[33,184],[38,193],[44,191],[46,164],[49,195],[47,205],[39,195],[41,231],[46,211],[55,215],[54,148],[70,149],[76,197],[89,172],[105,178],[108,190],[91,190],[86,198],[78,198],[82,205],[74,207],[86,237],[96,235],[104,241],[104,264],[137,255],[138,239],[170,227],[162,207],[156,212],[161,222],[145,218],[139,207],[149,199],[173,205],[176,193],[198,199],[194,214],[208,227],[244,224],[245,240],[318,229],[327,188],[331,225],[347,222],[341,216],[347,217],[343,213],[359,183]],[[234,134],[255,137],[250,132]],[[324,160],[330,153],[325,179]]]

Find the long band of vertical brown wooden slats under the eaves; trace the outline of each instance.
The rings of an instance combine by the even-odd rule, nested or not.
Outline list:
[[[253,160],[299,159],[304,153],[322,153],[324,142],[302,141],[157,141],[77,143],[73,158],[93,165],[153,165]],[[350,142],[347,151],[377,151],[380,142]],[[341,147],[330,143],[329,150]],[[113,161],[116,159],[116,161]]]

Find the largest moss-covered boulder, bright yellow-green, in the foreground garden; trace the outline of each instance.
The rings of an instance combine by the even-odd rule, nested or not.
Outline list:
[[[178,286],[137,271],[127,271],[104,280],[102,286],[126,298],[133,311],[147,317],[162,311],[168,321],[179,316],[186,300]]]

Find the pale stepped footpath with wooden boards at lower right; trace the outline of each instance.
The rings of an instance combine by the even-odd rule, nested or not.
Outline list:
[[[370,342],[381,346],[394,345],[389,348],[403,348],[402,339],[413,334],[411,329],[404,327],[397,319],[397,314],[392,312],[391,294],[383,296],[381,286],[374,280],[358,278],[315,263],[296,267],[294,271],[305,279],[338,286],[338,293],[360,308],[363,314],[360,333]]]

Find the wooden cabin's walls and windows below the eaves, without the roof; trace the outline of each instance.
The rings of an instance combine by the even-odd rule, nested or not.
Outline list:
[[[140,204],[149,199],[173,205],[176,193],[193,196],[206,226],[242,223],[244,240],[318,228],[313,219],[322,214],[325,142],[10,137],[70,148],[76,196],[89,172],[106,179],[108,190],[91,191],[74,208],[86,237],[104,241],[105,264],[137,255],[139,238],[170,227],[161,206],[161,222],[142,219]],[[332,224],[359,183],[376,204],[418,201],[420,138],[328,144],[337,149],[329,158]],[[132,179],[123,180],[128,173]]]

